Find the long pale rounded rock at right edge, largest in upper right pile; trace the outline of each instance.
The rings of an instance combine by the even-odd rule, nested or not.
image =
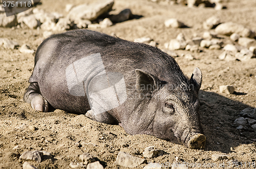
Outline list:
[[[237,33],[242,37],[249,37],[254,38],[255,32],[245,28],[244,26],[233,23],[233,22],[225,22],[221,23],[219,26],[216,27],[215,32],[222,35],[230,36],[232,33]]]

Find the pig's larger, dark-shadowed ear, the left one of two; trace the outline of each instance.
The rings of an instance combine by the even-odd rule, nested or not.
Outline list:
[[[136,89],[141,90],[155,90],[158,88],[158,85],[160,85],[160,80],[151,75],[148,74],[146,71],[143,71],[141,69],[135,69],[136,73]]]

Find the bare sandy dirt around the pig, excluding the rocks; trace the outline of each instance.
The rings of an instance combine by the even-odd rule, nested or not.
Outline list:
[[[46,12],[56,11],[67,15],[65,5],[79,5],[86,1],[41,1],[36,8]],[[159,43],[164,43],[183,33],[191,38],[197,33],[202,36],[203,21],[217,16],[222,22],[240,23],[256,31],[256,1],[229,1],[227,9],[216,11],[212,8],[187,8],[182,5],[166,5],[150,1],[115,1],[113,9],[117,12],[130,8],[133,14],[141,18],[117,23],[114,26],[97,31],[133,41],[135,38],[148,36]],[[164,20],[177,18],[189,28],[166,28]],[[57,32],[56,32],[57,33]],[[227,36],[224,44],[230,43]],[[20,45],[26,43],[36,50],[44,40],[41,30],[0,28],[0,38],[9,38]],[[177,54],[191,53],[185,50]],[[115,164],[117,154],[124,151],[136,157],[148,146],[154,145],[165,154],[148,162],[170,163],[175,157],[181,162],[217,164],[212,167],[189,168],[231,168],[230,161],[213,161],[212,154],[227,154],[239,162],[233,168],[255,168],[249,166],[256,160],[256,131],[253,129],[238,130],[233,125],[241,117],[244,108],[256,107],[256,59],[249,61],[221,61],[218,59],[221,50],[203,49],[201,53],[191,53],[196,59],[186,60],[176,57],[176,61],[188,77],[195,67],[202,70],[203,82],[199,92],[200,115],[202,127],[207,137],[204,150],[190,150],[180,144],[158,139],[148,135],[129,135],[120,126],[94,122],[84,115],[67,113],[62,110],[38,112],[23,102],[23,94],[28,87],[28,79],[34,66],[34,55],[22,54],[17,49],[10,50],[0,46],[0,168],[22,168],[24,161],[19,156],[25,151],[42,150],[52,154],[37,163],[29,161],[37,168],[70,168],[71,162],[81,162],[79,155],[84,152],[94,154],[104,168],[125,168]],[[219,86],[232,85],[234,94],[220,93]],[[80,146],[77,146],[79,142]],[[225,164],[223,167],[220,164]],[[209,165],[208,165],[209,166]],[[170,167],[169,167],[170,168]]]

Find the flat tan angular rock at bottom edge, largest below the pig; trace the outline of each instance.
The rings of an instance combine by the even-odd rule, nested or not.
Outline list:
[[[124,167],[137,167],[142,164],[145,159],[131,156],[130,154],[119,152],[116,158],[116,164]]]

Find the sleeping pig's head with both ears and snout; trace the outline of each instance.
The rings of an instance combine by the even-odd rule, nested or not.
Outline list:
[[[190,149],[203,149],[206,137],[202,134],[198,113],[201,70],[195,68],[190,79],[183,78],[169,82],[160,81],[139,69],[136,69],[136,75],[137,86],[143,84],[155,87],[147,106],[147,113],[154,114],[148,127],[150,134],[158,138],[178,141]]]

